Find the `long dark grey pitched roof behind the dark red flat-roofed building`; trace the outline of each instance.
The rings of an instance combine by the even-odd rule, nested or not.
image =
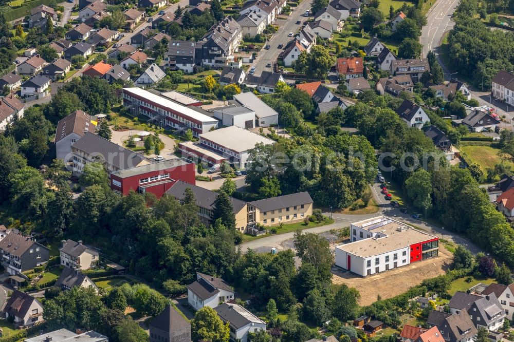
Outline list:
[[[120,170],[138,166],[139,163],[146,160],[142,154],[135,153],[130,149],[104,139],[96,134],[87,132],[79,141],[71,145],[89,155],[102,155],[109,164]]]

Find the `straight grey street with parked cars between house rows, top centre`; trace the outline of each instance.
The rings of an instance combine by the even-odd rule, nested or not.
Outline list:
[[[289,41],[294,39],[294,37],[288,36],[289,32],[292,32],[296,35],[296,33],[300,31],[303,22],[308,20],[304,14],[306,10],[310,10],[310,3],[311,1],[302,1],[300,6],[294,9],[286,20],[277,20],[275,24],[279,25],[279,30],[267,43],[271,46],[271,48],[269,50],[262,50],[259,52],[256,60],[251,65],[255,67],[255,75],[260,75],[263,71],[271,71],[271,68],[266,67],[266,65],[268,63],[272,64],[273,62],[277,61],[279,53],[283,51],[282,49],[278,48],[280,44],[285,47]],[[301,24],[297,25],[296,22],[299,20],[301,21]]]

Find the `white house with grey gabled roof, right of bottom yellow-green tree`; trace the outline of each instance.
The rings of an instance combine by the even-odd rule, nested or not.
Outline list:
[[[231,341],[247,342],[249,332],[266,330],[266,322],[240,305],[223,303],[214,310],[224,323],[230,324]]]

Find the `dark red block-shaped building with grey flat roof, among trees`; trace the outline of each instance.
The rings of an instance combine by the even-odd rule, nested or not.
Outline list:
[[[160,198],[178,180],[194,185],[195,169],[195,164],[186,158],[128,168],[111,173],[111,189],[123,195],[131,190],[148,192]]]

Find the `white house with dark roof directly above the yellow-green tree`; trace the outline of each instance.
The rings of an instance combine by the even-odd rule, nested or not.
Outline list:
[[[196,281],[188,285],[188,303],[194,310],[216,308],[234,299],[234,290],[222,278],[196,272]]]

